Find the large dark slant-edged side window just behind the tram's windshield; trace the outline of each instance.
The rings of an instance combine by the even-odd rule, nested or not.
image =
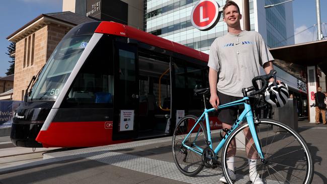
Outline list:
[[[113,107],[113,86],[112,39],[104,36],[75,77],[63,106]]]

